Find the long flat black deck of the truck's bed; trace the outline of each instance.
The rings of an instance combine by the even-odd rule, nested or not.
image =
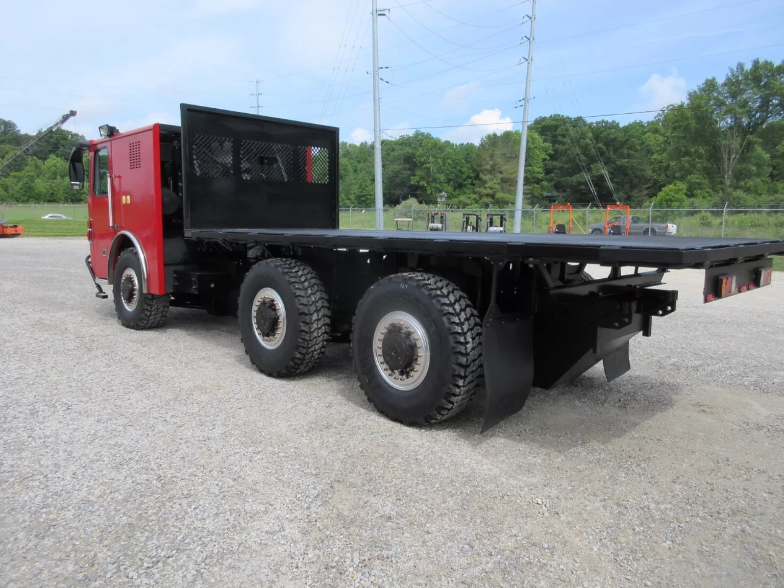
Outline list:
[[[760,238],[354,229],[199,229],[186,230],[185,236],[217,241],[256,241],[265,245],[673,268],[708,267],[722,262],[784,255],[784,239]]]

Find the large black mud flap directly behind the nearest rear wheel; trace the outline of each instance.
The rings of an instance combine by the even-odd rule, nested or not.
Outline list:
[[[482,325],[487,401],[482,433],[523,408],[534,378],[532,319],[491,304]]]

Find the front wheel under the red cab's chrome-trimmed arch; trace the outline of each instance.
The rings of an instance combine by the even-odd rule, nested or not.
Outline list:
[[[123,326],[142,330],[156,328],[169,314],[169,295],[143,292],[142,264],[136,249],[123,249],[112,279],[114,310]]]

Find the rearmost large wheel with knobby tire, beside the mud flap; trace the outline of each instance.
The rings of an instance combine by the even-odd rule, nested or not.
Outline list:
[[[432,274],[376,282],[354,317],[359,384],[383,415],[429,424],[466,408],[481,376],[481,322],[468,297]]]

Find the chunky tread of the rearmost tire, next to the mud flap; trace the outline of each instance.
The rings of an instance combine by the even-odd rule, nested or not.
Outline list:
[[[376,285],[389,282],[406,283],[409,286],[419,289],[434,303],[444,324],[448,328],[449,339],[452,340],[452,381],[449,383],[448,393],[441,403],[423,419],[411,421],[401,421],[407,425],[429,425],[439,421],[449,419],[461,412],[469,404],[477,390],[477,385],[483,376],[482,372],[482,347],[481,332],[482,325],[479,314],[474,308],[465,292],[459,289],[451,281],[441,278],[434,274],[422,272],[407,272],[405,274],[394,274],[378,281]],[[365,296],[358,304],[358,309],[365,303],[365,299],[372,291],[368,289]],[[356,315],[352,321],[352,327],[356,326]],[[354,354],[354,328],[351,330],[351,354]],[[434,358],[438,361],[439,358]],[[375,366],[372,367],[375,369]],[[372,401],[368,394],[362,378],[358,378],[360,387],[365,392],[365,397],[382,412]]]

